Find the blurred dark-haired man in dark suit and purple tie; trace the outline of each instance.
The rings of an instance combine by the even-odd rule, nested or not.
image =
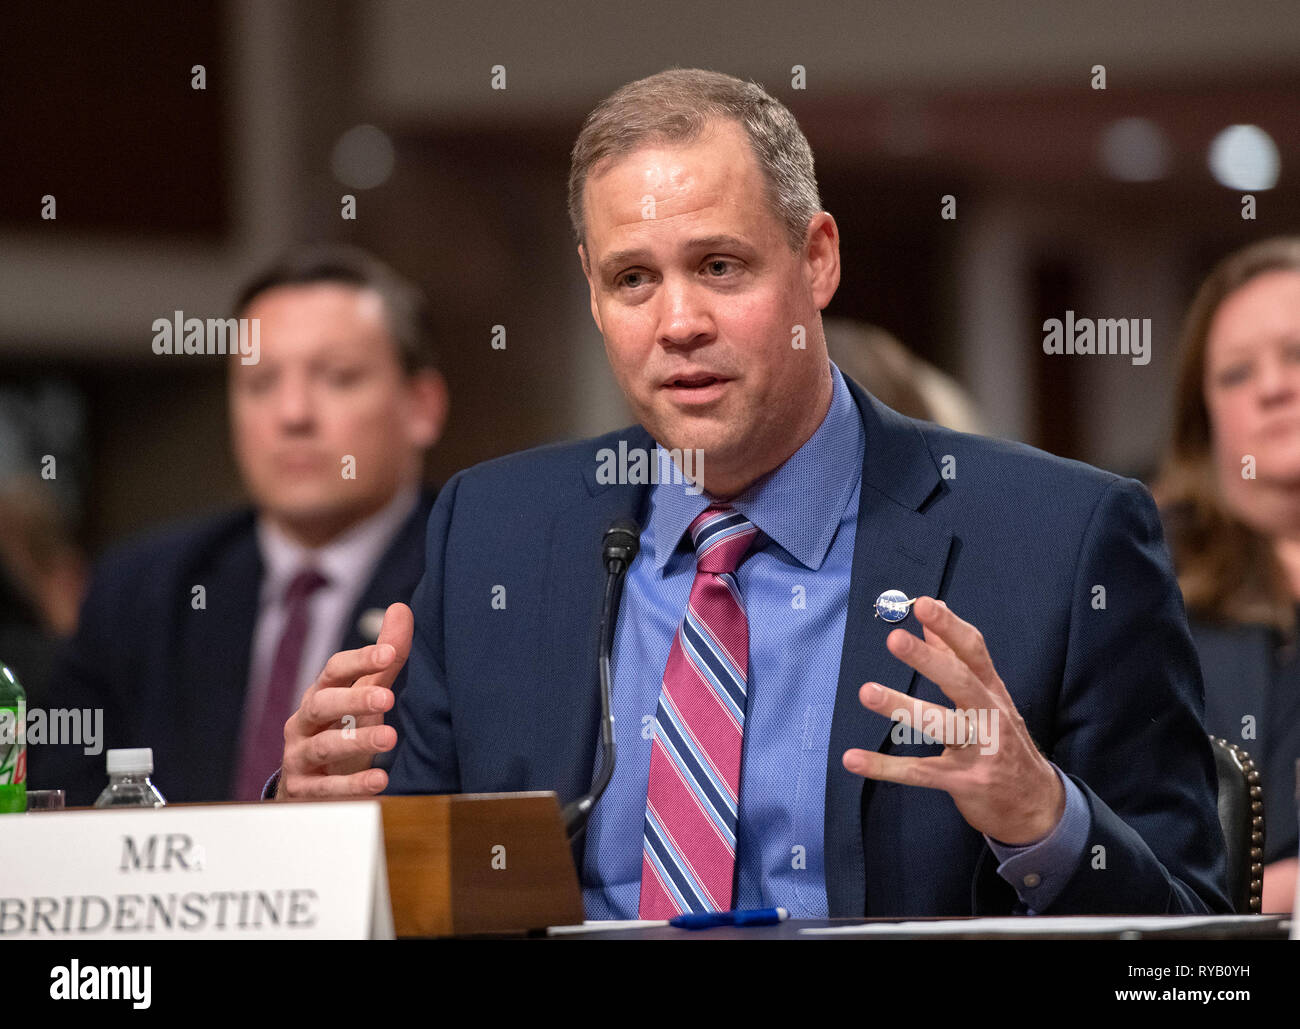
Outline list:
[[[410,599],[433,503],[422,460],[447,412],[422,298],[368,255],[292,253],[237,314],[260,324],[260,360],[229,366],[254,507],[107,556],[49,702],[103,707],[105,746],[152,747],[173,802],[256,799],[329,655],[373,642],[380,612]],[[34,746],[31,782],[91,803],[104,757]]]

